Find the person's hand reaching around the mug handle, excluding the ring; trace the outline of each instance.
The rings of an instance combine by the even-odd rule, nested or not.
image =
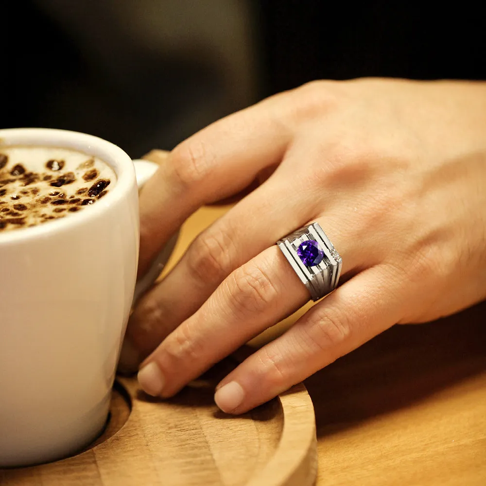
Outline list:
[[[141,193],[140,270],[195,209],[255,180],[131,316],[122,364],[146,358],[148,393],[174,395],[309,300],[275,242],[311,222],[343,258],[341,286],[219,384],[225,412],[273,398],[395,323],[486,297],[485,84],[319,81],[213,123]]]

